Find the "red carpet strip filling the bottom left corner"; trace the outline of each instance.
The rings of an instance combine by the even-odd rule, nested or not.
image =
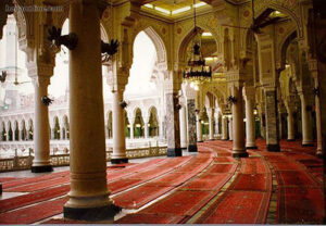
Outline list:
[[[67,198],[47,201],[33,206],[0,214],[0,224],[32,224],[63,212]]]

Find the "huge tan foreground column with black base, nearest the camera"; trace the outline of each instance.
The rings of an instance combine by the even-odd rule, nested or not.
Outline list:
[[[70,1],[70,32],[78,45],[70,51],[71,191],[64,217],[84,221],[112,219],[117,210],[106,186],[99,2]]]

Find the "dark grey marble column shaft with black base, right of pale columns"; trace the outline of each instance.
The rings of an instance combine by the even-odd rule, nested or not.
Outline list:
[[[280,151],[276,97],[275,88],[265,88],[266,149],[273,152]]]

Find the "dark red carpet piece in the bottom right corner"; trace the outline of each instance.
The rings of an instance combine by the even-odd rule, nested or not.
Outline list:
[[[284,188],[278,191],[278,224],[322,224],[323,191],[317,188]]]

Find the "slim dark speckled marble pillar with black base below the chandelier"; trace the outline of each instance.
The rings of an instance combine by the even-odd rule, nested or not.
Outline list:
[[[197,116],[195,99],[187,99],[188,110],[188,152],[197,152]]]

